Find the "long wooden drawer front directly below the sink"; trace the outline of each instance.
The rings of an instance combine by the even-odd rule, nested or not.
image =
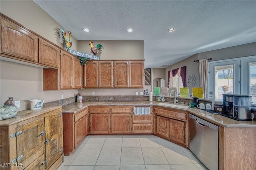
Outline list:
[[[186,111],[176,112],[176,111],[172,111],[172,110],[155,108],[154,113],[162,115],[162,116],[166,116],[169,118],[173,118],[173,119],[186,120]]]

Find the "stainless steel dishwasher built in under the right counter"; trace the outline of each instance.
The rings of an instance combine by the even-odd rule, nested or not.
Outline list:
[[[219,127],[189,114],[189,148],[210,170],[218,169]]]

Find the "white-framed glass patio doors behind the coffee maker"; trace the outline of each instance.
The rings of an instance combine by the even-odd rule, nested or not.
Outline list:
[[[208,97],[222,100],[224,93],[251,95],[256,103],[256,56],[208,64]]]

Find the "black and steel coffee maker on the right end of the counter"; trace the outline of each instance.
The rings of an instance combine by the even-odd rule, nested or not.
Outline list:
[[[223,94],[221,115],[237,121],[251,120],[252,97],[248,95]]]

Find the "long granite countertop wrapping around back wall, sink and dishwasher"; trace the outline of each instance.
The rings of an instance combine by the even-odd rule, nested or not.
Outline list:
[[[62,106],[63,113],[77,113],[88,106],[157,106],[170,109],[178,109],[182,111],[188,111],[192,115],[195,115],[201,119],[204,119],[215,125],[222,127],[256,127],[256,121],[236,121],[222,115],[214,115],[212,113],[206,112],[200,109],[180,109],[175,107],[168,107],[157,105],[159,102],[153,101],[84,101],[83,103],[71,103],[68,105]],[[166,102],[167,103],[167,102]]]

